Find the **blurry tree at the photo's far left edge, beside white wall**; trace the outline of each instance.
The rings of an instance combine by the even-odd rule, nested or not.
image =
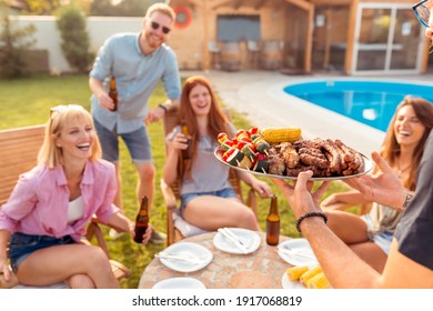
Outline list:
[[[36,43],[32,38],[34,31],[33,24],[18,27],[10,19],[8,10],[3,10],[0,32],[0,76],[19,78],[32,71],[31,48]]]

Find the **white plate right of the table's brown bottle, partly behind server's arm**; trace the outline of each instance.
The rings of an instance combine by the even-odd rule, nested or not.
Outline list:
[[[288,248],[292,250],[294,253],[300,254],[288,254],[283,253],[281,251],[278,251],[279,255],[288,263],[293,265],[308,265],[310,268],[315,267],[319,264],[318,260],[315,259],[314,252],[310,247],[310,243],[305,239],[290,239],[284,242],[281,242],[279,244],[279,248]],[[303,257],[301,254],[305,254],[308,257],[312,257],[313,259],[310,259],[308,257]]]

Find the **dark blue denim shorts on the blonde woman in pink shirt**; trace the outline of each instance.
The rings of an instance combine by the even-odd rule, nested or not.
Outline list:
[[[58,239],[49,235],[32,235],[16,232],[12,234],[9,243],[9,258],[12,270],[17,272],[18,265],[37,250],[72,243],[74,241],[70,235]]]

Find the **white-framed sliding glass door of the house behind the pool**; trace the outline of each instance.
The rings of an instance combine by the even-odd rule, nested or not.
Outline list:
[[[352,72],[417,72],[423,38],[410,6],[360,3]]]

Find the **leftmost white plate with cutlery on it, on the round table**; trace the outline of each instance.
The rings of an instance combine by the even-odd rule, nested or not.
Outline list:
[[[212,261],[212,252],[207,248],[191,242],[178,242],[163,250],[165,254],[191,257],[201,260],[192,263],[184,260],[160,258],[162,264],[178,272],[193,272],[207,267]]]

